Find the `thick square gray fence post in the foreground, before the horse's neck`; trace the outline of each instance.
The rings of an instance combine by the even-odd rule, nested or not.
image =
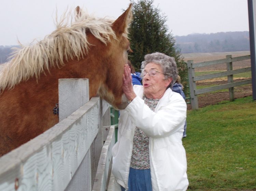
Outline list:
[[[88,79],[59,79],[59,121],[89,101]],[[91,151],[87,151],[80,168],[69,182],[65,191],[88,190],[93,187],[91,176]]]

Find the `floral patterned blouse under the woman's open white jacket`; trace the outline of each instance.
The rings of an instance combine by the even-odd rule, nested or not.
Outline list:
[[[155,108],[159,102],[159,99],[148,99],[144,97],[145,104],[152,110]],[[130,167],[133,169],[150,169],[150,159],[149,159],[149,137],[136,127],[133,137],[132,155]]]

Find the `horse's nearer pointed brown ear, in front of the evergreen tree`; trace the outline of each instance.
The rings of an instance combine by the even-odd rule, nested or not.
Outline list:
[[[123,33],[127,34],[127,29],[132,20],[132,10],[131,4],[127,8],[127,10],[119,16],[112,25],[112,29],[115,31],[116,35],[122,35]]]

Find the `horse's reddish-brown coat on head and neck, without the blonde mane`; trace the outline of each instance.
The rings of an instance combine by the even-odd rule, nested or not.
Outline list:
[[[53,115],[58,103],[58,79],[88,78],[90,97],[99,94],[116,108],[126,106],[126,100],[122,100],[122,76],[129,50],[126,31],[130,20],[131,5],[112,24],[116,37],[106,44],[87,31],[88,52],[81,60],[68,59],[65,65],[52,66],[39,78],[32,76],[12,89],[1,90],[0,156],[58,122],[58,116]]]

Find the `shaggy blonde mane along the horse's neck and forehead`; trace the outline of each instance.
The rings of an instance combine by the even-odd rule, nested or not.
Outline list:
[[[32,76],[38,79],[45,70],[64,65],[69,59],[83,58],[89,45],[86,31],[90,31],[104,44],[111,40],[111,36],[116,38],[111,28],[113,20],[98,19],[80,11],[75,16],[75,21],[72,21],[71,15],[71,11],[67,16],[63,14],[56,24],[57,29],[43,40],[16,48],[12,59],[0,70],[0,91],[6,87],[13,88]]]

